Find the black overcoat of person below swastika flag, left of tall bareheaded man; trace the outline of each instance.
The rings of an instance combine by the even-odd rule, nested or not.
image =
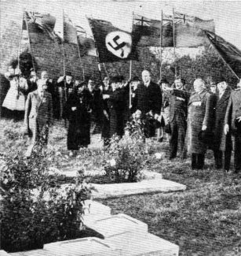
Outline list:
[[[108,100],[108,109],[110,113],[110,138],[116,134],[122,136],[123,127],[123,111],[124,111],[124,94],[121,89],[117,89],[110,94]]]

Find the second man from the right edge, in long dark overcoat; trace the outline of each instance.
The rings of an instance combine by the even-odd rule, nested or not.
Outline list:
[[[225,81],[217,83],[215,121],[214,121],[214,159],[217,169],[229,170],[232,154],[231,135],[225,135],[225,113],[232,89]]]

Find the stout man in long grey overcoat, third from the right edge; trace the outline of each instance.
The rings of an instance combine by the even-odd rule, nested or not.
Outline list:
[[[192,154],[192,169],[203,169],[206,143],[199,139],[199,133],[210,131],[214,116],[214,103],[205,83],[198,78],[193,83],[194,94],[188,102],[188,152]]]

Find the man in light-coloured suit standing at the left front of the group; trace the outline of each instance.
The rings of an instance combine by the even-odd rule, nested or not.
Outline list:
[[[53,124],[52,96],[46,91],[46,83],[37,83],[38,89],[27,95],[25,105],[25,132],[30,138],[30,145],[25,154],[27,157],[31,156],[35,143],[48,143],[49,126]]]

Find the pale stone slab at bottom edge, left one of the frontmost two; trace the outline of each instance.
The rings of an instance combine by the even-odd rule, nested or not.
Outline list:
[[[103,239],[89,237],[48,243],[44,249],[61,256],[120,256],[121,251],[106,243]]]

